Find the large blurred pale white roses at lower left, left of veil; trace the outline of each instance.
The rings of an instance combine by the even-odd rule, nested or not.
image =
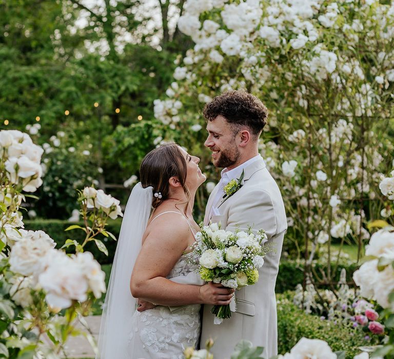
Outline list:
[[[72,301],[84,302],[87,293],[99,298],[105,292],[105,273],[90,252],[69,256],[56,250],[55,242],[43,231],[19,230],[12,245],[10,270],[23,275],[14,288],[14,300],[24,306],[31,304],[30,290],[44,289],[46,301],[54,311],[71,306]]]

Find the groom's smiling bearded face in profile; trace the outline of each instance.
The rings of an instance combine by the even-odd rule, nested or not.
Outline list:
[[[219,115],[207,124],[208,138],[204,145],[212,151],[215,167],[228,169],[238,166],[241,153],[237,146],[237,134],[226,118]]]

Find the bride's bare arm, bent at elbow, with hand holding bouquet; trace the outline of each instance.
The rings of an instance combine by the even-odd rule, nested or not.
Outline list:
[[[190,231],[186,222],[179,221],[178,214],[155,221],[133,268],[130,279],[133,297],[164,306],[229,304],[232,291],[229,293],[221,285],[179,284],[166,278],[187,248]]]

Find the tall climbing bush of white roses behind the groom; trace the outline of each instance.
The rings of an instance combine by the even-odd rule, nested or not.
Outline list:
[[[373,0],[204,4],[186,1],[179,29],[194,46],[177,60],[170,86],[176,90],[155,100],[165,140],[193,150],[204,141],[204,133],[191,130],[204,126],[203,98],[232,89],[261,98],[269,118],[260,153],[293,222],[287,238],[309,273],[326,249],[323,273],[315,272],[313,280],[338,281],[343,246],[356,244],[360,260],[369,239],[367,223],[382,210],[377,189],[393,150],[394,5]],[[206,151],[199,156],[209,166]],[[391,182],[385,184],[388,192]],[[333,238],[341,248],[337,258],[330,250]]]

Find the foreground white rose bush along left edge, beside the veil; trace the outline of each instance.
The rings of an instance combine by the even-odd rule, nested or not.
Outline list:
[[[105,273],[84,248],[94,241],[107,253],[97,236],[114,238],[105,227],[108,218],[123,215],[119,201],[93,187],[80,191],[85,227],[67,230],[81,229],[81,243],[68,240],[55,249],[47,233],[24,228],[21,212],[26,196],[32,196],[25,192],[42,184],[43,149],[26,133],[3,130],[0,151],[0,354],[60,358],[70,335],[85,335],[94,345],[91,335],[75,325],[84,322],[94,299],[106,291]],[[64,248],[72,246],[75,253],[66,253]]]

